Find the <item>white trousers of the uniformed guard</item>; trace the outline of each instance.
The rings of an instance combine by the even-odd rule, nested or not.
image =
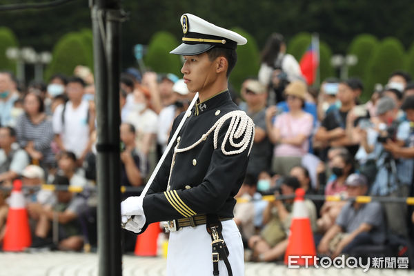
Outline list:
[[[221,221],[223,238],[230,252],[233,275],[244,275],[244,250],[242,235],[233,219]],[[167,276],[212,276],[213,260],[211,258],[211,237],[206,225],[185,227],[170,233],[167,256]],[[219,261],[220,276],[227,276],[227,268]]]

